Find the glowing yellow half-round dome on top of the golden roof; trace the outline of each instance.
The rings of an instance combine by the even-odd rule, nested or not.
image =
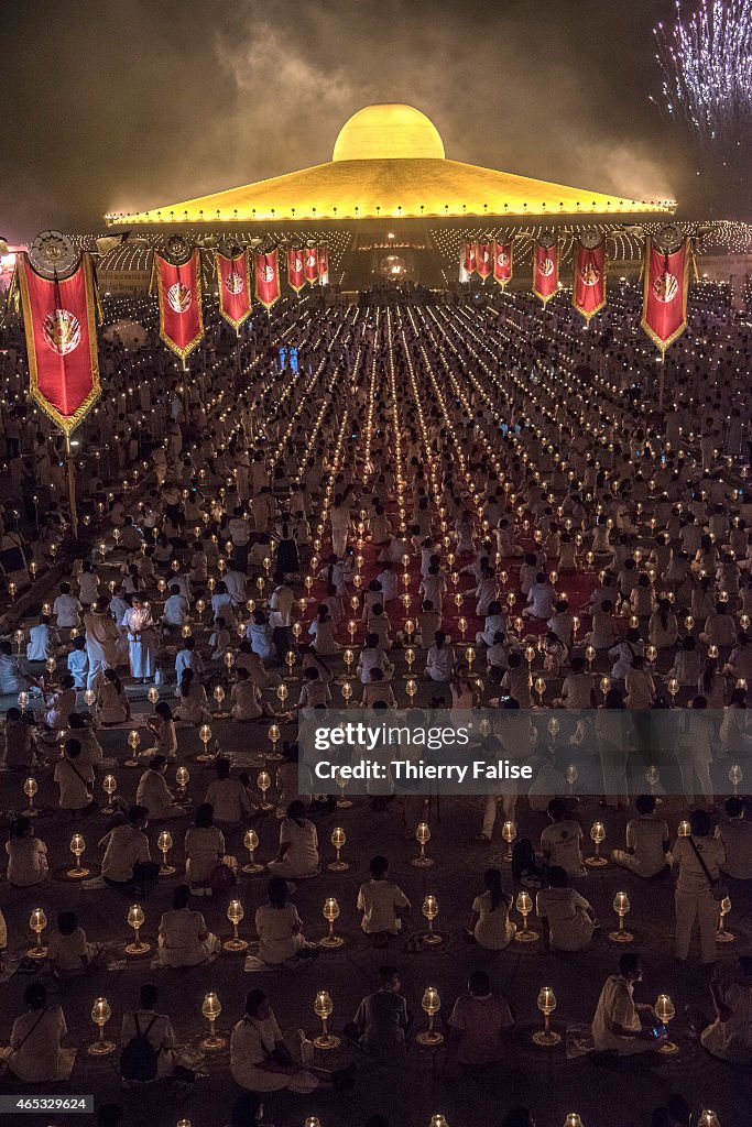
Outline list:
[[[444,160],[439,130],[413,106],[364,106],[345,122],[333,160]]]

